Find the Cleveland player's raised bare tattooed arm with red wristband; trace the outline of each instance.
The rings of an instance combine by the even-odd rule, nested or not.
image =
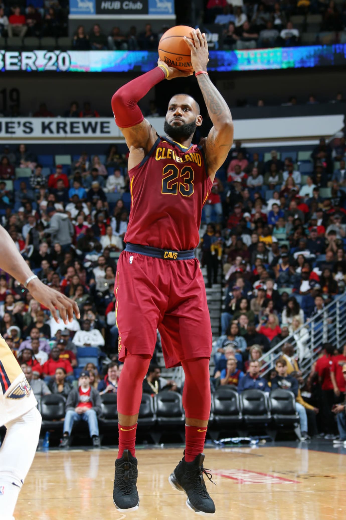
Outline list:
[[[199,29],[191,33],[193,43],[184,38],[191,50],[191,63],[195,72],[206,71],[209,61],[208,44],[205,34]],[[222,95],[213,85],[207,74],[198,74],[198,85],[209,113],[213,127],[203,140],[209,176],[214,180],[218,168],[223,165],[233,142],[233,121],[231,112]]]

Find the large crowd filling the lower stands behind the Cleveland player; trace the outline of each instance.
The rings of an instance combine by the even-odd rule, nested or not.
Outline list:
[[[336,422],[330,422],[335,404],[338,425],[344,424],[339,413],[346,350],[335,353],[325,344],[307,381],[300,363],[311,355],[309,324],[302,325],[320,316],[316,327],[328,327],[324,308],[345,290],[345,155],[343,137],[333,145],[321,139],[312,151],[285,156],[272,150],[269,157],[237,141],[202,214],[200,259],[207,287],[221,276],[224,296],[212,391],[292,389],[302,438],[308,432],[335,437]],[[48,309],[2,274],[0,333],[38,398],[48,393],[66,398],[71,413],[63,444],[73,423],[85,420],[98,446],[100,394],[116,392],[121,370],[114,286],[130,211],[127,156],[113,145],[104,156],[83,152],[65,164],[58,159],[53,166],[50,156],[36,157],[26,145],[2,149],[1,222],[35,274],[78,303],[81,318],[57,324]],[[288,337],[277,352],[275,371],[262,377],[262,355]],[[84,363],[83,352],[92,353],[92,365]],[[153,362],[158,352],[159,336]],[[160,375],[158,366],[150,367],[145,392],[181,392]]]

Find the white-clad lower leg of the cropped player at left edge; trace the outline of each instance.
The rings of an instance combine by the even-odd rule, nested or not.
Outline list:
[[[35,456],[41,428],[37,408],[6,424],[0,449],[0,517],[13,520],[19,492]]]

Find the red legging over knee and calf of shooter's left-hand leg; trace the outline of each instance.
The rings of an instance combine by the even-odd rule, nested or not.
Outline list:
[[[118,384],[119,413],[136,415],[140,411],[143,380],[148,372],[150,359],[146,354],[127,354]]]

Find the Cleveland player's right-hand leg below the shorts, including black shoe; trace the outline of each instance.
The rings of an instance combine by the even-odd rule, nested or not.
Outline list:
[[[196,513],[215,513],[215,505],[206,490],[203,473],[204,441],[210,415],[211,394],[209,358],[182,361],[185,372],[183,406],[186,414],[186,448],[183,459],[169,477],[173,487],[185,491],[186,505]]]

